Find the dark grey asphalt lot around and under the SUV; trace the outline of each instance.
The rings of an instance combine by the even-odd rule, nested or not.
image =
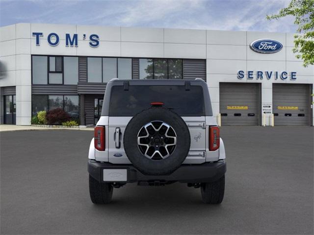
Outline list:
[[[88,193],[93,132],[0,133],[1,234],[313,234],[313,127],[222,127],[225,198],[183,184]]]

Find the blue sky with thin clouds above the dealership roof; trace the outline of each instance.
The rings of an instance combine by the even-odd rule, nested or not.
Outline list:
[[[290,0],[0,0],[0,26],[16,23],[295,32],[267,21]]]

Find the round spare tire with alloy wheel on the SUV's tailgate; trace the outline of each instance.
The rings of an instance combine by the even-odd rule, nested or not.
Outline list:
[[[139,171],[165,175],[185,160],[190,134],[179,115],[166,108],[152,107],[130,120],[123,144],[129,160]]]

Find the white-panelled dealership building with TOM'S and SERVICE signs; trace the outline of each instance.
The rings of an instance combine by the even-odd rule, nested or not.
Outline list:
[[[221,125],[313,125],[314,66],[295,58],[293,39],[250,31],[4,26],[0,121],[30,125],[38,111],[59,107],[80,125],[94,125],[111,78],[201,78]]]

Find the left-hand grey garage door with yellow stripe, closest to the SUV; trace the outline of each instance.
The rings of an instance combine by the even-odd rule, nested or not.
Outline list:
[[[260,91],[259,83],[220,83],[221,124],[259,125]]]

